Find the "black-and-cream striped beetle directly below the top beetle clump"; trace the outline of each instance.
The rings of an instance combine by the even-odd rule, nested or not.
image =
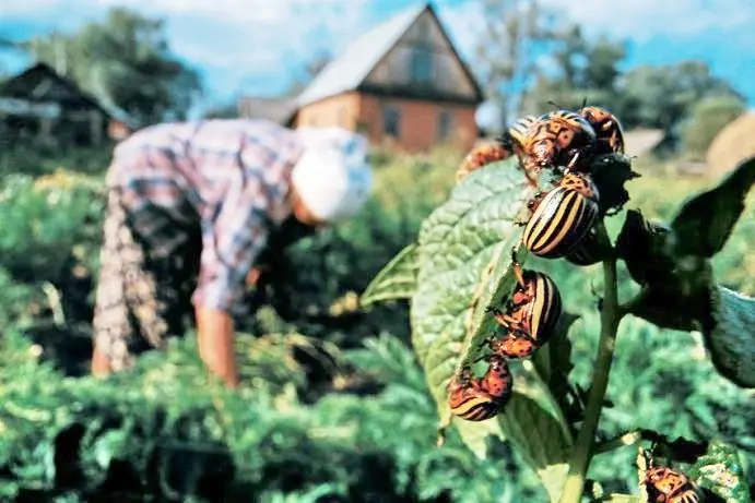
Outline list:
[[[533,254],[558,259],[587,237],[600,213],[598,188],[589,176],[567,170],[556,188],[536,196],[522,242]]]

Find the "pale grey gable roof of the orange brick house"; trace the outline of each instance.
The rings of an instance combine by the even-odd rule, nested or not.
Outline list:
[[[406,31],[417,21],[421,14],[428,11],[437,19],[433,7],[422,2],[399,12],[397,15],[365,32],[351,43],[344,52],[331,61],[306,89],[296,98],[296,106],[303,107],[320,99],[356,89],[367,79],[369,73],[382,58],[396,46]],[[476,79],[461,59],[446,29],[440,24],[440,31],[446,37],[453,55],[461,62],[464,74],[472,82],[475,94],[482,100],[482,91]]]

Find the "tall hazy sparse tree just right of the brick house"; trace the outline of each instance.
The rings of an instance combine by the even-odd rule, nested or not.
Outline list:
[[[503,129],[521,110],[553,23],[538,0],[485,0],[482,19],[475,70],[487,98],[500,108]]]

